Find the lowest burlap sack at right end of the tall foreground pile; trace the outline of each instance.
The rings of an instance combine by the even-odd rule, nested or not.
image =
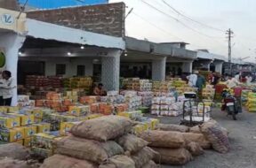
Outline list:
[[[132,155],[132,160],[135,163],[136,168],[140,168],[145,164],[148,164],[150,160],[156,155],[156,152],[148,147],[141,149],[136,154]]]

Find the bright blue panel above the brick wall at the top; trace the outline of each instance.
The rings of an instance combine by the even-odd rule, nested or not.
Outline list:
[[[24,4],[26,0],[19,0],[19,2],[20,4]],[[41,9],[54,9],[68,6],[104,3],[108,3],[108,0],[29,0],[28,6]]]

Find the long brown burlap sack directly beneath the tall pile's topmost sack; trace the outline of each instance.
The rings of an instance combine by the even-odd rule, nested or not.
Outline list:
[[[98,164],[106,161],[108,157],[124,154],[124,149],[115,141],[93,141],[69,136],[55,142],[55,153],[85,159]]]

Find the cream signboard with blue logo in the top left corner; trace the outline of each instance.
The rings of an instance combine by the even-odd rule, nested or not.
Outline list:
[[[21,13],[20,18],[18,18],[19,11],[11,11],[0,8],[0,29],[12,30],[14,32],[24,32],[26,14]]]

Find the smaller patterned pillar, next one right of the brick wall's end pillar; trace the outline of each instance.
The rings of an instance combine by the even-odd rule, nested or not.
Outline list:
[[[152,61],[152,80],[165,80],[166,57]]]

